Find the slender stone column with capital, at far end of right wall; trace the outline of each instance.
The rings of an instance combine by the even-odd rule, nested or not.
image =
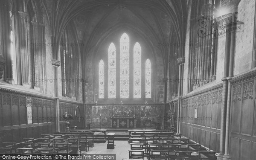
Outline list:
[[[183,86],[183,66],[185,63],[185,58],[178,58],[177,62],[179,64],[179,87],[178,87],[178,113],[177,113],[177,134],[180,135],[180,108],[181,108],[181,98],[182,98],[182,86]]]

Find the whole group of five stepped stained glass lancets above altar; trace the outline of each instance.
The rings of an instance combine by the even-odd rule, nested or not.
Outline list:
[[[130,42],[126,33],[121,35],[120,41],[117,43],[119,44],[111,42],[108,46],[108,65],[104,65],[104,59],[99,60],[98,98],[151,98],[151,61],[147,59],[146,63],[142,64],[143,58],[147,58],[147,55],[142,56],[143,50],[140,43]],[[119,45],[120,49],[116,50],[115,45]],[[105,78],[108,79],[108,82],[105,81]],[[108,84],[105,85],[105,83]]]

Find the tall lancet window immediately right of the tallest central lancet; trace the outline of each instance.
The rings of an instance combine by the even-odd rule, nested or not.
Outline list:
[[[141,98],[141,47],[134,45],[134,98]]]

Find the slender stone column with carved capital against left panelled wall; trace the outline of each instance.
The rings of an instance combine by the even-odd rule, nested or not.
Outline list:
[[[61,62],[55,59],[52,59],[52,66],[53,66],[53,76],[54,76],[54,86],[55,86],[55,97],[56,97],[56,131],[60,131],[60,109],[59,109],[59,98],[58,98],[58,67],[60,66]]]

